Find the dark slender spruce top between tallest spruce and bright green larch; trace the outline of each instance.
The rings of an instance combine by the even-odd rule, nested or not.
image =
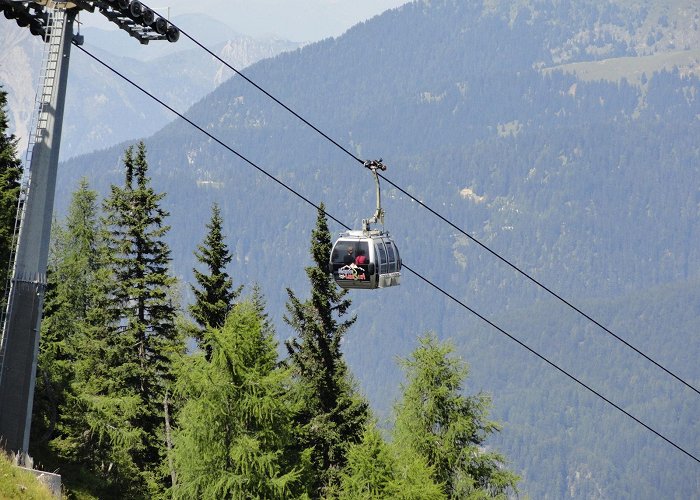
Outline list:
[[[226,265],[233,257],[224,242],[222,225],[221,210],[214,204],[211,220],[207,224],[207,235],[195,251],[195,257],[206,266],[207,272],[205,274],[193,269],[199,287],[190,285],[195,296],[195,303],[190,306],[190,312],[201,327],[196,332],[195,340],[208,356],[211,355],[211,345],[206,338],[207,329],[223,326],[226,315],[243,288],[234,290],[233,280],[226,273]]]

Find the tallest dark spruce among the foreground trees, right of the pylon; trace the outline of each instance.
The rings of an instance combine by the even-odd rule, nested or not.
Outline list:
[[[162,484],[157,467],[164,442],[163,402],[174,378],[173,356],[184,349],[184,342],[175,327],[176,280],[169,274],[170,249],[164,241],[169,214],[160,206],[165,194],[150,186],[143,142],[135,154],[133,147],[126,150],[124,166],[124,186],[113,185],[104,202],[113,280],[108,308],[112,328],[104,339],[104,355],[112,381],[99,390],[122,398],[114,400],[121,406],[113,409],[130,412],[130,420],[120,424],[133,438],[129,455],[142,477],[157,488]]]

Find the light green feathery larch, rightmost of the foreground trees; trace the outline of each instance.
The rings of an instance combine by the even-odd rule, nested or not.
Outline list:
[[[449,498],[505,498],[518,477],[503,467],[502,455],[483,448],[499,430],[488,420],[490,398],[461,394],[468,368],[451,357],[451,344],[440,344],[434,334],[419,342],[402,362],[407,382],[396,405],[394,441],[425,458]]]

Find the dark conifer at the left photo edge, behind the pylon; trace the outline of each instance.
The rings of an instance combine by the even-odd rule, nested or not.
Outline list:
[[[6,272],[10,264],[22,178],[22,163],[17,158],[17,139],[7,133],[9,127],[6,106],[7,92],[0,87],[0,278],[3,286],[8,278]]]

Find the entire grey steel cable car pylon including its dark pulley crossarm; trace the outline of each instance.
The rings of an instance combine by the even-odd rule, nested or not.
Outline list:
[[[0,318],[0,445],[22,455],[29,448],[70,48],[83,42],[74,34],[78,12],[95,10],[142,44],[175,42],[179,37],[176,27],[137,0],[0,0],[0,12],[7,19],[46,42],[36,128],[29,138],[17,207],[7,306]]]

